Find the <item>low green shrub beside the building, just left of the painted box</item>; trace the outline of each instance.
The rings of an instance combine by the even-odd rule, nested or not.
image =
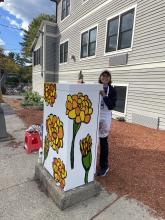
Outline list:
[[[27,91],[24,93],[23,106],[38,106],[43,108],[43,99],[38,92]]]

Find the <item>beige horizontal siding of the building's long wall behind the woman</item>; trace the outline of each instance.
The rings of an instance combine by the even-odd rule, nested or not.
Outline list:
[[[105,54],[107,18],[136,6],[133,47],[125,51],[127,65],[111,66],[109,59],[119,54]],[[128,84],[126,119],[133,121],[137,113],[159,117],[159,128],[165,129],[165,1],[162,0],[71,0],[71,13],[62,22],[61,2],[58,7],[60,41],[69,40],[68,63],[59,68],[60,81],[77,81],[82,70],[85,81],[96,82],[100,72],[109,69],[114,83]],[[80,59],[81,33],[98,26],[97,48],[94,58]],[[122,51],[121,54],[123,54]],[[71,59],[76,57],[76,62]],[[143,118],[144,120],[144,118]],[[147,118],[146,118],[147,121]],[[146,122],[147,124],[148,122]]]

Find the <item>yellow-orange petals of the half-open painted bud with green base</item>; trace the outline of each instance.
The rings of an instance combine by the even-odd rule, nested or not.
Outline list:
[[[88,134],[85,138],[80,140],[80,150],[82,156],[87,156],[87,154],[91,151],[92,148],[92,138]]]

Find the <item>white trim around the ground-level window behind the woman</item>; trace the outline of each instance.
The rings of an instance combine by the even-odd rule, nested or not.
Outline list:
[[[125,98],[124,113],[112,110],[112,113],[114,114],[114,116],[116,116],[116,117],[117,116],[125,117],[126,113],[127,113],[127,101],[128,101],[128,87],[129,87],[129,83],[112,83],[112,86],[123,86],[123,87],[126,87],[126,98]]]

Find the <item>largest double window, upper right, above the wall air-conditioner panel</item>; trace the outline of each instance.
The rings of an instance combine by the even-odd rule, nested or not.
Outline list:
[[[108,21],[106,52],[130,48],[132,43],[135,9]]]

